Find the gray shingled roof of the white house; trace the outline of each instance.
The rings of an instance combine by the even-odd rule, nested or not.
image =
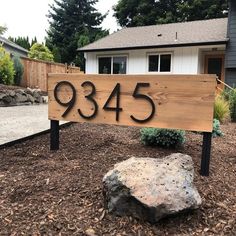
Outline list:
[[[228,18],[124,28],[78,51],[180,47],[226,43]]]

